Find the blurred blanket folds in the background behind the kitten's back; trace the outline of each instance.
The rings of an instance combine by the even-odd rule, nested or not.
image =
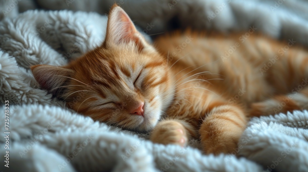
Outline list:
[[[14,11],[49,10],[109,12],[117,3],[142,29],[159,34],[175,28],[216,29],[221,32],[255,26],[274,38],[294,39],[308,45],[308,2],[306,0],[1,0],[3,15]],[[0,1],[0,2],[1,2]],[[14,7],[12,1],[17,2]],[[35,2],[35,3],[34,3]],[[0,3],[1,4],[1,3]],[[9,6],[9,7],[7,7]],[[9,12],[10,6],[12,12]],[[1,18],[1,14],[0,14]]]

